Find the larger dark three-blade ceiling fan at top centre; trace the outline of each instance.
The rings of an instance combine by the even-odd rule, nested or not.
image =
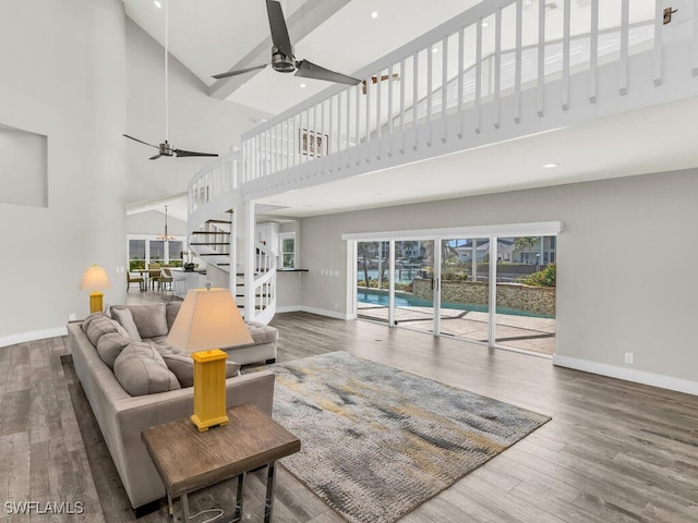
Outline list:
[[[358,85],[361,83],[358,78],[322,68],[309,60],[297,61],[293,56],[293,46],[291,45],[291,38],[288,34],[288,27],[286,26],[286,19],[284,17],[281,4],[275,0],[266,0],[266,12],[269,17],[269,29],[272,32],[272,41],[274,42],[274,46],[272,47],[270,62],[274,71],[278,73],[292,73],[296,71],[296,76],[300,76],[302,78],[324,80],[326,82],[336,82],[347,85]],[[216,80],[228,78],[230,76],[238,76],[251,71],[257,71],[266,68],[267,65],[269,64],[265,63],[263,65],[227,71],[225,73],[214,74],[213,77]]]

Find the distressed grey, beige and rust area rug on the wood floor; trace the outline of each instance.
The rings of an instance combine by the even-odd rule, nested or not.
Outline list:
[[[346,352],[272,369],[301,439],[281,463],[356,523],[397,521],[550,419]]]

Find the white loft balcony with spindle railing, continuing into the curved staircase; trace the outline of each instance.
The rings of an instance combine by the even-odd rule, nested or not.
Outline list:
[[[192,180],[192,232],[215,236],[207,220],[230,208],[253,223],[262,197],[696,96],[698,0],[676,0],[669,25],[664,8],[480,2],[353,73],[364,85],[332,85],[244,134],[241,150]],[[254,228],[240,230],[254,244]],[[274,303],[274,268],[239,279],[245,308]]]

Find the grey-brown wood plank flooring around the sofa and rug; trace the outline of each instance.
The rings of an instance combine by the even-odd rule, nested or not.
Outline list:
[[[342,350],[552,416],[402,523],[698,522],[698,397],[369,321],[287,313],[273,325],[279,362]],[[67,338],[0,348],[0,523],[136,521],[69,354]],[[245,522],[263,521],[264,477],[248,476]],[[191,496],[192,515],[230,514],[236,485]],[[84,513],[9,513],[23,501]],[[274,515],[344,521],[282,466]],[[167,521],[165,508],[137,521]]]

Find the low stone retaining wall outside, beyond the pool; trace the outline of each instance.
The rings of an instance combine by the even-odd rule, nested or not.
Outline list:
[[[412,295],[431,300],[432,281],[419,278],[412,281]],[[441,299],[448,303],[486,305],[489,284],[480,281],[442,280]],[[497,305],[555,316],[555,288],[497,283]]]

